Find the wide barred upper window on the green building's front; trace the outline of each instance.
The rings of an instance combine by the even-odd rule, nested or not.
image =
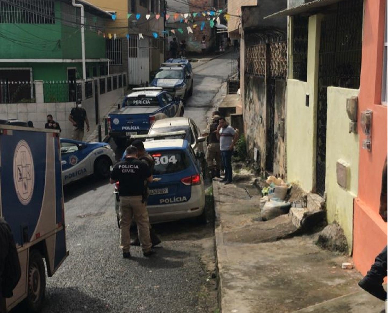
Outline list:
[[[54,0],[0,2],[0,23],[55,24]]]

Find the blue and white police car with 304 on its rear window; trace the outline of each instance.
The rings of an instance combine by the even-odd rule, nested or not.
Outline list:
[[[147,202],[151,223],[198,217],[205,222],[205,190],[200,162],[187,140],[164,139],[144,142],[154,158],[152,173],[157,181],[149,185]],[[115,185],[116,213],[119,216],[118,183]]]

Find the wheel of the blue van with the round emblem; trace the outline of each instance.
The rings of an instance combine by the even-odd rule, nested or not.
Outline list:
[[[46,273],[42,255],[38,250],[31,250],[29,253],[27,288],[25,301],[28,312],[40,312],[46,292]]]

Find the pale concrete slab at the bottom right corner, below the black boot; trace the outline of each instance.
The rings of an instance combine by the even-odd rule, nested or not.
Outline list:
[[[365,291],[334,298],[293,313],[385,313],[385,303]]]

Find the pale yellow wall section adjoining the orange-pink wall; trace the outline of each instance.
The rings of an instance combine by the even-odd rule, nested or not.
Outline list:
[[[327,221],[336,221],[348,240],[349,253],[353,242],[353,199],[357,196],[359,172],[359,136],[349,133],[350,119],[346,114],[346,99],[357,96],[359,90],[327,88],[326,132],[326,209]],[[337,183],[336,163],[345,161],[347,186]]]

